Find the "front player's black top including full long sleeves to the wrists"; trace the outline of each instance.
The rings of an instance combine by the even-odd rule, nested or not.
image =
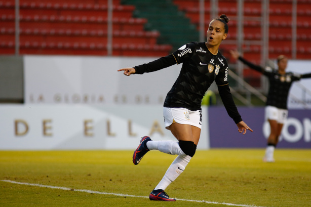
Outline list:
[[[236,123],[242,121],[228,86],[228,65],[218,52],[212,54],[205,43],[188,43],[173,54],[149,63],[135,66],[136,74],[157,71],[182,63],[178,78],[166,96],[164,107],[201,110],[202,98],[215,80],[219,95]]]

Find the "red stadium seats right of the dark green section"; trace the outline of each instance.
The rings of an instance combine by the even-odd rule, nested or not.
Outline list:
[[[190,0],[174,0],[173,1],[178,8],[185,12],[185,15],[190,19],[191,23],[197,26],[199,30],[200,23],[200,5],[199,1]],[[227,39],[237,39],[237,4],[238,1],[230,0],[219,0],[218,1],[218,16],[226,14],[231,20],[228,23],[229,34]],[[261,4],[260,0],[245,0],[243,13],[243,39],[249,43],[259,41],[262,39],[261,29]],[[209,2],[205,1],[205,30],[208,29],[210,21],[210,8]],[[269,58],[275,58],[280,53],[284,53],[291,57],[291,46],[292,46],[292,0],[270,0],[269,1]],[[254,17],[258,17],[255,20]],[[216,18],[216,17],[215,17]],[[297,58],[311,58],[308,48],[310,48],[310,37],[311,33],[311,1],[310,0],[297,0]],[[231,44],[223,42],[225,48],[230,48]],[[250,49],[250,47],[243,47],[247,50],[247,55],[250,58],[260,59],[260,50],[256,51]],[[303,49],[304,48],[304,49]],[[246,52],[246,51],[244,51]],[[305,53],[302,55],[302,53]]]

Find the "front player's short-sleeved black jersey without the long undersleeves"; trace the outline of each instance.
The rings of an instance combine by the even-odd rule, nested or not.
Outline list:
[[[205,43],[191,42],[173,53],[177,64],[183,63],[179,76],[167,94],[165,107],[201,109],[202,98],[215,80],[228,84],[228,65],[220,54],[213,55]]]

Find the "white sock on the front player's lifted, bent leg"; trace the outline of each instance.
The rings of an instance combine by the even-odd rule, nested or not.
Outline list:
[[[160,152],[164,152],[167,154],[186,155],[180,149],[178,142],[175,141],[148,141],[147,147],[149,150],[157,149]]]

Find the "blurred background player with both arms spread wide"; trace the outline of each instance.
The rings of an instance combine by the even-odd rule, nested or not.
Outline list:
[[[301,75],[286,72],[287,57],[284,55],[280,55],[277,58],[278,69],[274,69],[254,65],[241,57],[238,51],[230,51],[230,54],[232,58],[242,61],[247,66],[261,72],[269,79],[270,87],[265,107],[265,119],[267,119],[270,124],[270,135],[267,140],[267,147],[263,161],[274,162],[274,150],[279,142],[283,125],[288,116],[287,97],[289,89],[293,81],[311,77],[311,73]]]

